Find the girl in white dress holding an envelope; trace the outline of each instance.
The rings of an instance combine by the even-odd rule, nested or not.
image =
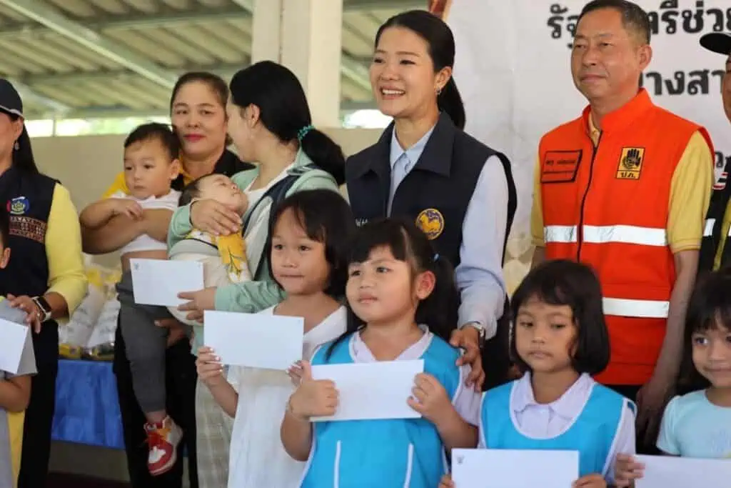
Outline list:
[[[319,189],[284,200],[273,222],[267,254],[271,274],[287,298],[260,313],[303,317],[303,359],[308,360],[317,346],[346,329],[345,308],[338,300],[345,292],[346,249],[355,219],[341,195]],[[213,398],[235,417],[228,486],[294,487],[304,465],[287,456],[279,439],[279,424],[294,390],[287,372],[232,367],[228,380],[234,387],[211,348],[198,350],[196,364]]]

